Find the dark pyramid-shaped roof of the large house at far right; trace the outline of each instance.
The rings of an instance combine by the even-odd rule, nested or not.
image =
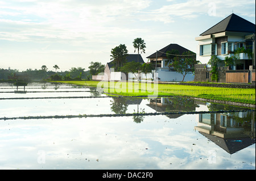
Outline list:
[[[233,31],[233,32],[255,32],[255,24],[241,18],[236,14],[231,14],[221,22],[201,33],[200,36],[210,35],[213,33]]]

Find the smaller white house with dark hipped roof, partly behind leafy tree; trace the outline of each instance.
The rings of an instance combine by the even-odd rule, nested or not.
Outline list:
[[[156,70],[153,70],[153,73],[158,73],[159,81],[164,82],[179,82],[183,80],[183,75],[177,73],[174,68],[169,67],[168,65],[172,62],[172,60],[168,60],[166,53],[170,50],[178,50],[179,54],[183,54],[184,52],[192,52],[184,47],[181,47],[178,44],[169,44],[166,47],[160,49],[146,57],[150,60],[151,64],[156,66]],[[157,60],[156,60],[157,57]],[[154,77],[154,76],[153,76]],[[194,77],[192,73],[185,75],[184,81],[193,81]]]

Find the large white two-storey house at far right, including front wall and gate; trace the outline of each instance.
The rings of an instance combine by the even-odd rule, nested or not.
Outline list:
[[[219,70],[240,70],[241,72],[247,70],[247,73],[249,73],[249,69],[255,69],[255,62],[252,56],[253,38],[255,38],[255,24],[236,14],[229,15],[221,20],[221,22],[201,33],[199,37],[196,37],[198,42],[196,60],[200,61],[201,65],[195,67],[195,81],[208,81],[210,79],[209,71],[211,70],[211,65],[208,65],[208,62],[212,56],[222,60],[222,62],[218,63]],[[225,65],[225,58],[232,58],[233,65]],[[202,69],[201,72],[198,69]],[[203,69],[209,71],[202,73]],[[201,75],[198,76],[199,74]],[[239,82],[248,83],[249,74],[242,76],[246,77],[246,79],[242,78]],[[229,79],[226,77],[226,73],[223,73],[222,78],[218,82],[238,81],[238,79],[235,80],[232,77]]]

